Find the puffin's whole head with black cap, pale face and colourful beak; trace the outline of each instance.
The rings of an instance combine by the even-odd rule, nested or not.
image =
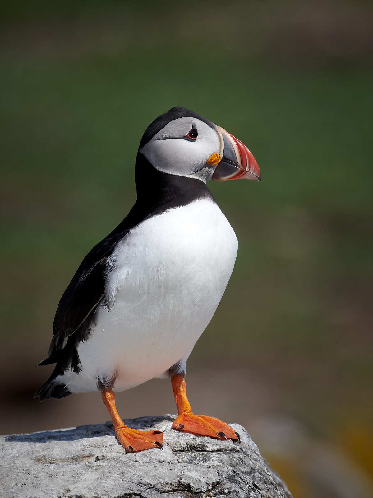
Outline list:
[[[139,152],[164,173],[216,180],[259,180],[253,154],[240,140],[184,107],[173,107],[150,124]]]

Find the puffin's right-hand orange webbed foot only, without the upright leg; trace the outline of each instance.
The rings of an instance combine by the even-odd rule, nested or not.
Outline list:
[[[190,432],[197,436],[209,436],[221,440],[240,440],[238,432],[232,427],[218,418],[208,417],[207,415],[182,413],[175,419],[172,428],[182,432]]]

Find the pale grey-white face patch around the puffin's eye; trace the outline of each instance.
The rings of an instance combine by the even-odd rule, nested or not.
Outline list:
[[[184,137],[193,125],[197,138],[186,140]],[[159,171],[206,182],[216,168],[206,164],[206,161],[212,154],[220,152],[220,138],[217,129],[203,121],[179,118],[166,124],[140,152]]]

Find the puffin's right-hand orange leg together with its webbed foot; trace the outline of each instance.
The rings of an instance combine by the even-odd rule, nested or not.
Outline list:
[[[179,413],[172,424],[173,429],[191,432],[198,436],[210,436],[216,439],[240,440],[238,432],[233,430],[232,427],[225,422],[222,422],[215,417],[208,417],[207,415],[194,415],[191,412],[183,375],[171,377],[171,383]]]

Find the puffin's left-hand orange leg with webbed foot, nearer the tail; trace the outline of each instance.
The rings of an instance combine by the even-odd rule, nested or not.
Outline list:
[[[102,391],[102,401],[109,410],[113,421],[116,437],[123,448],[134,453],[135,451],[161,448],[163,450],[163,431],[138,431],[124,425],[115,408],[115,394],[111,389]]]

